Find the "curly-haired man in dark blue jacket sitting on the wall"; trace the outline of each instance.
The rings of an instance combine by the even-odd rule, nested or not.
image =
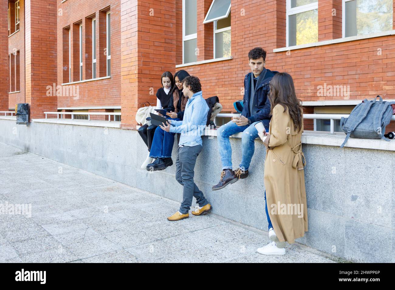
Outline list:
[[[229,183],[248,176],[252,155],[254,155],[254,140],[258,137],[255,124],[262,122],[266,131],[269,131],[270,101],[269,82],[277,71],[265,68],[266,51],[256,47],[248,52],[248,64],[251,73],[244,78],[243,112],[238,118],[221,126],[217,131],[218,148],[222,161],[221,179],[213,190],[222,189]],[[232,170],[232,148],[229,137],[235,133],[243,132],[241,137],[242,158],[239,167]]]

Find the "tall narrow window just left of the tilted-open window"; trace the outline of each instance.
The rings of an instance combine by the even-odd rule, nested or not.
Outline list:
[[[182,1],[182,63],[196,62],[198,13],[196,0]]]

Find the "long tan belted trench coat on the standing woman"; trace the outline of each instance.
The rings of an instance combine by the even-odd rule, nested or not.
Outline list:
[[[302,132],[303,123],[296,132],[288,108],[285,112],[282,105],[273,108],[265,160],[266,202],[278,239],[288,243],[308,229]]]

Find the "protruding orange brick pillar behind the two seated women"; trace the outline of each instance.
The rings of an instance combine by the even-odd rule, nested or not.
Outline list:
[[[156,104],[155,94],[161,87],[162,73],[174,73],[175,9],[175,0],[121,0],[121,127],[124,129],[135,128],[140,103]]]

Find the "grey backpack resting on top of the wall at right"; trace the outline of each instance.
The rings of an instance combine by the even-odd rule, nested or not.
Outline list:
[[[378,97],[380,101],[376,101]],[[340,119],[340,128],[347,134],[340,148],[343,148],[349,137],[389,141],[384,137],[384,133],[393,115],[392,104],[395,102],[383,102],[382,97],[377,96],[373,100],[365,99],[356,105],[348,118]]]

